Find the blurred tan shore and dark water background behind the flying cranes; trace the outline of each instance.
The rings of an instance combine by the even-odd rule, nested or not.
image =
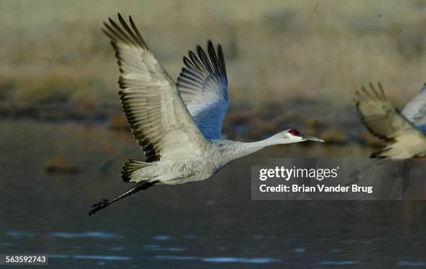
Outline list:
[[[296,128],[327,143],[268,148],[87,218],[141,159],[100,31],[117,12],[171,77],[188,49],[221,43],[224,138]],[[248,179],[269,157],[368,157],[379,141],[354,91],[381,81],[401,109],[420,91],[426,1],[1,0],[0,23],[0,254],[47,253],[56,268],[426,266],[422,202],[251,201]]]

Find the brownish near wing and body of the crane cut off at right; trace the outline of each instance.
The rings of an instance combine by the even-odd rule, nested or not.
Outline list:
[[[390,104],[380,83],[379,91],[370,83],[370,90],[361,87],[356,94],[356,107],[361,120],[372,134],[386,144],[372,157],[415,157],[424,153],[425,135]]]

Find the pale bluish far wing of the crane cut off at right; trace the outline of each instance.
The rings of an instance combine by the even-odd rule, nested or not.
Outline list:
[[[401,113],[426,134],[426,83],[420,93],[405,105]]]

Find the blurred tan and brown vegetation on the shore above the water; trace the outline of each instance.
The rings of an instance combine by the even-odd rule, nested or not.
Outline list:
[[[188,49],[208,38],[223,45],[231,102],[224,128],[232,130],[308,117],[302,128],[317,132],[310,122],[342,115],[352,118],[341,125],[360,124],[352,98],[362,84],[380,80],[401,107],[426,81],[420,0],[3,0],[0,115],[125,125],[116,59],[100,31],[117,12],[134,17],[174,78]]]

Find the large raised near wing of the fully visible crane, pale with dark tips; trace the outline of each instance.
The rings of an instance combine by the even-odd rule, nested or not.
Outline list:
[[[118,84],[123,110],[146,162],[155,162],[200,153],[205,143],[175,82],[150,52],[132,17],[129,24],[118,14],[118,25],[109,19],[104,33],[116,52]]]

